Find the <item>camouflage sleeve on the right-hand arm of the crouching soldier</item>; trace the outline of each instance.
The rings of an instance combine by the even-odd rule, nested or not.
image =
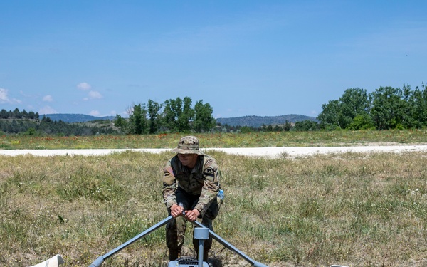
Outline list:
[[[216,198],[219,190],[218,166],[215,159],[208,159],[203,168],[204,185],[201,189],[199,202],[195,208],[200,211],[202,216],[206,213],[212,201]]]

